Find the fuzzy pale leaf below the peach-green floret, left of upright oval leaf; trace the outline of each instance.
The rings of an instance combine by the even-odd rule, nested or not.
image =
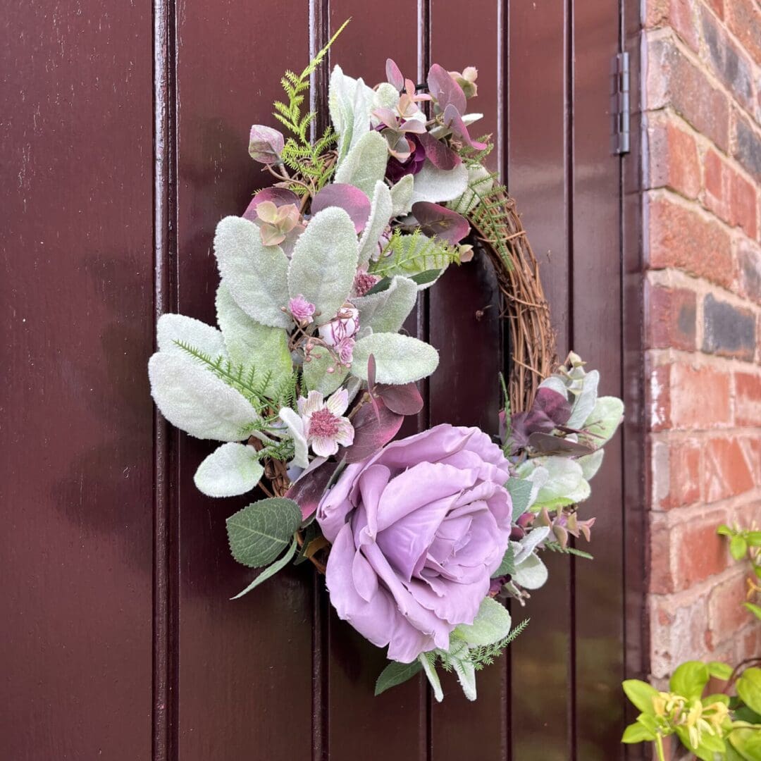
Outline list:
[[[287,328],[288,257],[279,246],[265,246],[256,224],[225,217],[214,236],[219,272],[238,306],[263,325]]]

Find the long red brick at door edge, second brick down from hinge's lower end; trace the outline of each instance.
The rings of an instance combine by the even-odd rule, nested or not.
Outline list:
[[[718,221],[668,198],[648,200],[649,266],[676,267],[718,285],[734,282],[731,239]]]

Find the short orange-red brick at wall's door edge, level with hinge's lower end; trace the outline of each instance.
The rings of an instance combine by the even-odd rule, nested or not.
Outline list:
[[[658,124],[650,132],[651,187],[669,187],[687,198],[700,192],[700,164],[693,135],[673,121]]]

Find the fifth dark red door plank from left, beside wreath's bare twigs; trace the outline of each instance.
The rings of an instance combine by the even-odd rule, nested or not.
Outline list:
[[[563,0],[509,4],[508,185],[540,260],[561,358],[568,350],[570,273],[565,23]],[[511,757],[519,761],[571,757],[570,564],[564,556],[546,563],[549,583],[513,613],[531,619],[511,645]]]

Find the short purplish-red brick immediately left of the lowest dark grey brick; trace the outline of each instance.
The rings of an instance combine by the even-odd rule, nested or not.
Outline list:
[[[696,295],[686,288],[645,284],[649,349],[695,349]]]

